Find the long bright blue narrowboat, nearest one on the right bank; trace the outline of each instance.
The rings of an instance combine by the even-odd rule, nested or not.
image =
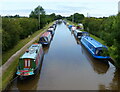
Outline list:
[[[87,50],[96,59],[110,59],[108,49],[90,36],[83,36],[81,43],[87,48]]]

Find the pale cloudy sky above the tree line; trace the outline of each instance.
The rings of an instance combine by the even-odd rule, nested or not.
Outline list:
[[[70,16],[74,13],[90,17],[108,17],[118,13],[120,0],[0,0],[0,15],[29,16],[38,5],[46,14]]]

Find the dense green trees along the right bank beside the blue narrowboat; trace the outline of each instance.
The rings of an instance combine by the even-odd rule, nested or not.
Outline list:
[[[120,14],[108,18],[85,18],[82,23],[86,31],[103,39],[109,53],[120,67]]]

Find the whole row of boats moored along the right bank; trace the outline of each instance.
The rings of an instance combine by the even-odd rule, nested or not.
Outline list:
[[[68,28],[72,30],[74,36],[79,39],[79,41],[87,48],[87,50],[92,54],[92,56],[96,59],[110,59],[108,54],[108,48],[105,45],[102,45],[100,42],[96,41],[92,37],[90,37],[88,32],[81,31],[83,29],[83,25],[73,26],[66,23]],[[79,29],[79,30],[78,30]]]

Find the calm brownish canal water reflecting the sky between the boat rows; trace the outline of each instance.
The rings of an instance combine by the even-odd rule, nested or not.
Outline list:
[[[41,72],[29,80],[15,80],[9,90],[118,90],[120,87],[115,67],[93,59],[64,23],[57,25],[44,52]]]

